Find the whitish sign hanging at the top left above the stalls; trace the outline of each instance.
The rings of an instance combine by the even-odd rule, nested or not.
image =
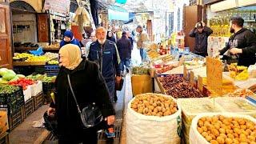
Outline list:
[[[46,0],[43,10],[53,10],[60,14],[68,14],[70,11],[70,0]]]

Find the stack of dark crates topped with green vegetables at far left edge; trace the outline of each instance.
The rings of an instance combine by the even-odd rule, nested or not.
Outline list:
[[[0,109],[7,111],[10,130],[13,130],[25,118],[22,87],[1,85],[0,88]]]

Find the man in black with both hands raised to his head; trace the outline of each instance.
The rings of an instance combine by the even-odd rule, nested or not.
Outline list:
[[[195,24],[194,29],[190,31],[190,37],[195,38],[194,42],[194,54],[206,57],[207,54],[207,39],[213,30],[207,27],[204,22],[198,22]]]

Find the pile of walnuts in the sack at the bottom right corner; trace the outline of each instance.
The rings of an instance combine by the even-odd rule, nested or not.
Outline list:
[[[198,132],[212,144],[256,143],[256,125],[245,118],[203,117],[198,120]]]

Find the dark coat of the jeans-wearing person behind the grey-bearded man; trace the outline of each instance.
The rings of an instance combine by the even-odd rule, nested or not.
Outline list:
[[[132,48],[129,38],[126,38],[126,36],[122,36],[122,38],[118,39],[117,46],[120,58],[122,60],[126,58],[131,58]]]

